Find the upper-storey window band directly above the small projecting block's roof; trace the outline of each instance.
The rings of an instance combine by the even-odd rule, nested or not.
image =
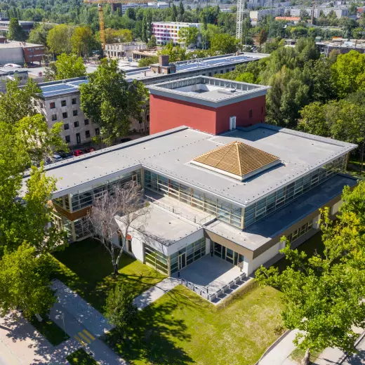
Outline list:
[[[234,227],[241,227],[242,209],[227,201],[204,194],[148,170],[145,170],[145,187],[215,215],[219,220],[234,225]]]

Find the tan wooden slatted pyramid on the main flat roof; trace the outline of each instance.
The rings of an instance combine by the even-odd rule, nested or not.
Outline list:
[[[192,159],[192,164],[244,180],[281,163],[272,154],[242,142],[231,142]]]

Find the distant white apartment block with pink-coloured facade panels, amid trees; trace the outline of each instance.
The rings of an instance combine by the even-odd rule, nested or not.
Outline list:
[[[156,41],[159,46],[167,44],[171,41],[173,41],[174,44],[183,44],[183,41],[181,41],[179,37],[179,31],[183,28],[189,27],[200,29],[201,24],[189,22],[153,22],[152,32],[154,36],[156,36]]]

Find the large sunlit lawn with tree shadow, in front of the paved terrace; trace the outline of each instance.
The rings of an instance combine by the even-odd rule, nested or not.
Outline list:
[[[126,340],[106,342],[136,365],[253,365],[279,337],[282,303],[279,291],[252,284],[218,307],[177,286],[138,312]]]

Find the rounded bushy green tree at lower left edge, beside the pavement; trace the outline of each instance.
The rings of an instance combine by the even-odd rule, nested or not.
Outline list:
[[[48,254],[22,244],[0,260],[0,314],[20,308],[26,318],[46,314],[55,303],[50,275],[54,269]]]

